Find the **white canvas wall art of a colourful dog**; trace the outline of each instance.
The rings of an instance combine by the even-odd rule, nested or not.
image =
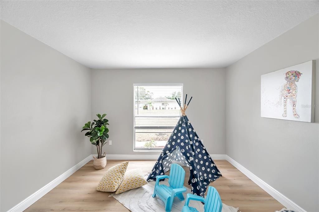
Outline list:
[[[314,122],[315,60],[261,76],[261,117]]]

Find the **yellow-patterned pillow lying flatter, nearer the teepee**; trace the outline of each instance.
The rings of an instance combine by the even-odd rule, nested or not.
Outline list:
[[[121,185],[116,190],[115,194],[120,194],[124,191],[138,188],[147,184],[146,179],[143,177],[142,169],[132,169],[125,173]]]

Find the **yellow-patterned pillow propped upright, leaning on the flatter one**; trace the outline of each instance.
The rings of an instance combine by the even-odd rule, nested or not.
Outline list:
[[[118,164],[108,169],[102,177],[96,190],[103,192],[115,192],[120,186],[129,162]]]

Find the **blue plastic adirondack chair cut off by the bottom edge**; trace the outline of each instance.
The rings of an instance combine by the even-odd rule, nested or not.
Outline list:
[[[198,212],[196,208],[188,206],[190,200],[204,202],[204,212],[221,212],[221,208],[223,207],[216,188],[212,186],[208,186],[206,199],[194,194],[187,194],[185,206],[183,207],[182,212]]]

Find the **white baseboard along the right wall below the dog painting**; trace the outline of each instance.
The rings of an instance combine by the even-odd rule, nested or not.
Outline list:
[[[275,198],[278,202],[280,202],[286,208],[289,208],[291,210],[295,210],[298,212],[306,212],[306,210],[304,210],[299,205],[297,205],[296,203],[288,199],[285,195],[281,194],[275,188],[271,187],[269,184],[267,184],[265,181],[257,177],[254,173],[250,172],[248,169],[246,169],[244,166],[239,164],[233,158],[229,157],[228,155],[226,155],[226,158],[227,158],[226,160],[230,164],[232,164],[236,169],[241,171],[244,175],[246,175],[249,179],[251,179],[254,183],[256,183],[259,187],[261,187],[265,192],[270,194],[273,198]]]

